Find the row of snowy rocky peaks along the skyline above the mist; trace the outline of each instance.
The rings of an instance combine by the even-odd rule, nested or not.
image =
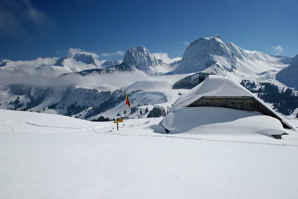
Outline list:
[[[291,63],[292,58],[290,57],[244,50],[233,43],[224,43],[221,36],[216,35],[191,42],[186,48],[182,60],[169,64],[156,59],[146,47],[137,46],[127,50],[123,61],[99,61],[92,55],[76,53],[60,57],[55,63],[43,63],[39,66],[30,65],[28,62],[22,63],[22,61],[5,61],[0,63],[0,69],[30,73],[30,69],[34,68],[41,71],[42,75],[56,76],[81,71],[84,71],[82,74],[86,74],[94,69],[107,70],[102,72],[143,71],[149,75],[188,74],[202,71],[228,76],[240,82],[242,79],[249,78],[275,79],[276,74]],[[292,66],[292,68],[295,67]],[[88,70],[90,71],[88,72]],[[281,77],[281,73],[279,77]],[[281,78],[279,79],[281,80]],[[295,80],[293,81],[295,82]]]

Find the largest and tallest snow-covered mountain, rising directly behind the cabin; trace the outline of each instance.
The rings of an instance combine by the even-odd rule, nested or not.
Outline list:
[[[244,78],[258,79],[264,75],[268,79],[274,79],[277,71],[288,66],[286,63],[289,59],[244,50],[233,43],[224,43],[220,35],[216,35],[193,41],[186,48],[180,64],[173,73],[203,71],[228,76],[237,81]]]

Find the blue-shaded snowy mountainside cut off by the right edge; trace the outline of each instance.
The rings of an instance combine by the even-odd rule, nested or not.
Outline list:
[[[298,55],[292,59],[290,66],[277,73],[276,80],[288,87],[298,89]]]

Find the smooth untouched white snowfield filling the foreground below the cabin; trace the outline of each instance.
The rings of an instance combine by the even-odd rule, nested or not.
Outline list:
[[[298,198],[297,140],[166,135],[160,119],[0,110],[0,198]]]

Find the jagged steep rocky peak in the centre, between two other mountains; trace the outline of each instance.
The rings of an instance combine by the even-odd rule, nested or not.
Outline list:
[[[144,46],[128,49],[124,55],[123,63],[126,63],[131,69],[142,71],[150,71],[159,66],[155,57]]]

